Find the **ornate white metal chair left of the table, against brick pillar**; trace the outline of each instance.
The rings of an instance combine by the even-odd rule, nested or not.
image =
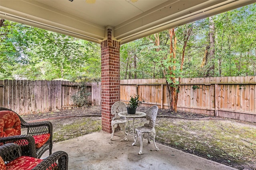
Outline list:
[[[115,129],[118,125],[120,126],[120,128],[123,129],[123,132],[124,132],[124,139],[121,139],[120,141],[128,141],[128,139],[126,138],[126,132],[125,132],[127,119],[126,117],[120,117],[118,115],[119,112],[126,111],[127,110],[126,107],[127,106],[124,102],[116,102],[111,107],[111,114],[114,115],[114,117],[112,117],[112,121],[111,121],[112,136],[110,138],[110,141],[112,141]]]

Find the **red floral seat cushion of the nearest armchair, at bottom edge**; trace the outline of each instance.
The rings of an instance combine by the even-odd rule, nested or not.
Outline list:
[[[42,161],[42,159],[30,156],[20,156],[6,164],[6,170],[31,170]],[[52,166],[47,168],[47,170],[52,170],[54,167],[57,167],[56,163],[52,164]]]

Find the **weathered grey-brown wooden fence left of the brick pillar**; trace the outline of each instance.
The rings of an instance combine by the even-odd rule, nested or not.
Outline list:
[[[88,104],[100,105],[101,83],[87,83]],[[62,80],[0,80],[0,107],[7,107],[20,115],[58,111],[74,107],[71,96],[78,92],[78,84]]]

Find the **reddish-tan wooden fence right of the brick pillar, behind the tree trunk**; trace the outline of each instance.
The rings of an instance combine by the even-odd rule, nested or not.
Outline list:
[[[168,109],[165,79],[121,80],[121,101],[138,94]],[[256,122],[256,76],[182,78],[178,110]]]

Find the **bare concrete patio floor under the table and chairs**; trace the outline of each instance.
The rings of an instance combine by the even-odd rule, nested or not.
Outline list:
[[[235,170],[229,166],[213,162],[177,149],[144,140],[142,155],[138,155],[140,145],[132,146],[129,141],[120,141],[122,131],[111,134],[104,131],[91,133],[74,139],[54,143],[53,152],[63,150],[68,153],[69,170]],[[138,143],[138,142],[137,142]],[[47,157],[45,152],[41,158]]]

